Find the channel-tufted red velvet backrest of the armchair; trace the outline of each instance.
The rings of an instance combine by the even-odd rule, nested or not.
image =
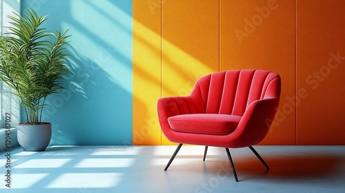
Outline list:
[[[190,98],[197,113],[242,116],[253,101],[276,98],[281,82],[278,74],[267,70],[228,70],[201,77]]]

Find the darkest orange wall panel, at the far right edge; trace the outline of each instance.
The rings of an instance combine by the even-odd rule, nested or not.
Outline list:
[[[345,1],[297,1],[297,145],[344,145]]]

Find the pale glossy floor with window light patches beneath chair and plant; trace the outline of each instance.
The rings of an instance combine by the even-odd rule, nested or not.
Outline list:
[[[52,146],[45,152],[0,152],[0,192],[345,192],[345,146]],[[7,159],[6,154],[10,154]],[[10,161],[10,185],[6,187]],[[8,181],[9,182],[9,181]]]

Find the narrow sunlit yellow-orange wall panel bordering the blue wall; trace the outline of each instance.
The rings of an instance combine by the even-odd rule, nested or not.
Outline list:
[[[133,1],[133,145],[160,145],[161,3]]]

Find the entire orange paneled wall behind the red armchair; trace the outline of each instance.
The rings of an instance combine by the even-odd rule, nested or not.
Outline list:
[[[157,99],[199,77],[260,68],[282,77],[261,145],[345,145],[345,1],[133,1],[133,144],[168,145]]]

